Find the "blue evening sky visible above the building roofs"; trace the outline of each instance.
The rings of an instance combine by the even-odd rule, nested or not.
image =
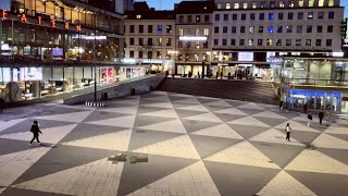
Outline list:
[[[137,0],[144,1],[144,0]],[[178,3],[181,0],[147,0],[150,8],[156,8],[156,10],[173,10],[174,3]],[[340,5],[346,7],[345,16],[348,17],[348,0],[340,0]]]

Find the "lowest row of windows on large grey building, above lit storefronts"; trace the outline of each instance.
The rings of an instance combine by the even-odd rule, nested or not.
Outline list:
[[[237,46],[236,44],[237,39],[231,39],[229,45],[231,46]],[[247,41],[247,42],[246,42]],[[263,46],[263,39],[239,39],[239,46]],[[266,46],[283,46],[284,40],[283,39],[266,39]],[[302,39],[295,39],[294,40],[295,46],[307,46],[310,47],[312,46],[312,39],[306,39],[302,41]],[[326,39],[325,41],[326,46],[332,46],[333,40],[332,39]],[[214,39],[214,46],[219,46],[220,40]],[[227,39],[222,39],[221,42],[222,46],[227,46]],[[293,46],[293,39],[285,39],[285,46]],[[313,44],[314,46],[314,44]],[[315,39],[315,46],[322,46],[322,39]]]

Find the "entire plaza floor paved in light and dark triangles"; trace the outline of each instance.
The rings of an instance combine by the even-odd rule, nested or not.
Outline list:
[[[347,121],[326,126],[314,118],[307,127],[306,115],[276,106],[162,91],[108,106],[1,114],[0,195],[348,193]],[[33,120],[45,146],[28,146]]]

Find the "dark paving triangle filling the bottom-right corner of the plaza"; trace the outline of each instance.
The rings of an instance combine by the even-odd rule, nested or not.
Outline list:
[[[343,196],[348,193],[348,175],[286,171],[316,195]]]

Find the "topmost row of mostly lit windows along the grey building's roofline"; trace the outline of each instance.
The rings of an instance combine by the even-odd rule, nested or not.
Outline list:
[[[306,3],[306,4],[304,4]],[[297,7],[301,8],[301,7],[334,7],[335,4],[335,0],[318,0],[316,4],[314,4],[314,0],[298,0],[297,1]],[[235,2],[235,3],[231,3],[231,2],[226,2],[224,4],[225,7],[222,8],[222,3],[217,3],[216,7],[217,9],[264,9],[264,8],[271,8],[271,9],[275,9],[275,8],[294,8],[295,7],[295,1],[294,0],[289,0],[287,4],[285,4],[285,1],[278,1],[277,3],[275,1],[261,1],[260,3],[258,2]]]

